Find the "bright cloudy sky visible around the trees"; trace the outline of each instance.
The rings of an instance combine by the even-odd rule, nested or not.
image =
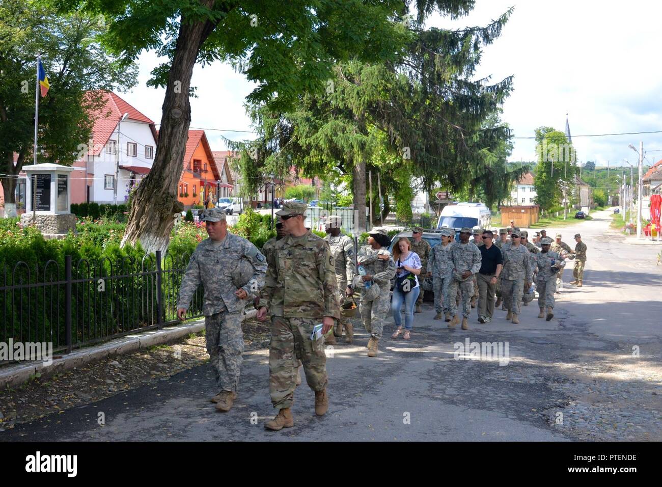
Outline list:
[[[477,0],[473,13],[457,21],[439,16],[428,26],[462,28],[487,25],[514,6],[502,36],[486,46],[477,76],[493,81],[514,75],[514,91],[504,103],[502,119],[516,137],[534,136],[534,129],[565,129],[568,113],[579,160],[598,166],[636,164],[639,148],[645,165],[662,158],[662,133],[585,137],[606,133],[662,130],[662,64],[658,62],[657,28],[662,4],[643,0]],[[139,85],[122,96],[155,122],[161,118],[164,90],[146,87],[157,59],[144,53]],[[220,63],[193,73],[198,99],[191,101],[191,127],[250,131],[244,97],[252,84]],[[247,133],[207,131],[214,150],[226,148],[222,137],[251,138]],[[535,143],[514,139],[510,160],[532,160]],[[627,165],[628,162],[625,164]]]

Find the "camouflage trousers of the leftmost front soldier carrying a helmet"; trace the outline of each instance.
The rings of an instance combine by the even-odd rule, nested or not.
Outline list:
[[[221,311],[205,316],[205,337],[209,362],[216,374],[220,390],[237,392],[239,386],[244,333],[242,333],[243,309],[228,313]]]

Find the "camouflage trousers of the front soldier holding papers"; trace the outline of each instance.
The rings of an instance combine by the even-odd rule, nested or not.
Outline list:
[[[320,323],[312,318],[271,318],[269,345],[269,394],[276,409],[291,407],[297,388],[299,360],[303,364],[306,382],[312,390],[322,390],[328,384],[324,339],[310,340],[312,328]]]

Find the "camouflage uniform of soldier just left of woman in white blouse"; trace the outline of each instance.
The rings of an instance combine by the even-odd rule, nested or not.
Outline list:
[[[377,258],[380,254],[389,256],[389,260]],[[358,254],[359,265],[365,268],[365,274],[373,276],[372,283],[379,286],[379,296],[372,301],[365,301],[365,290],[361,291],[361,320],[366,331],[375,339],[381,338],[384,329],[384,319],[391,305],[391,279],[395,277],[395,262],[391,252],[386,247],[375,250],[367,244],[361,247]]]

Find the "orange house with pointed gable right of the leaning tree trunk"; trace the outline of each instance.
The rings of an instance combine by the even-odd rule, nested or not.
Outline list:
[[[184,209],[202,205],[205,199],[216,197],[218,180],[220,173],[205,131],[189,131],[177,199],[183,203]]]

